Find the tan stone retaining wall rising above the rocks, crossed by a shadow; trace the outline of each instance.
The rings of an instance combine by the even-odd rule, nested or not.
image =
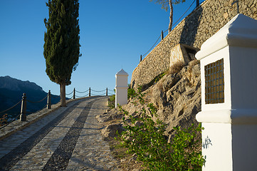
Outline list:
[[[201,48],[204,41],[236,16],[236,4],[231,6],[233,1],[206,0],[192,11],[135,68],[131,78],[132,87],[150,83],[166,71],[170,64],[170,51],[178,43]],[[239,1],[239,12],[257,19],[257,0]]]

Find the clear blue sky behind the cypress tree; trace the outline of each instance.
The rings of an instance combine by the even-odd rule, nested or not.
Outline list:
[[[174,5],[174,22],[193,1]],[[195,6],[196,2],[185,16]],[[66,93],[73,88],[78,91],[89,87],[113,90],[115,73],[121,68],[129,74],[130,83],[140,55],[145,54],[161,31],[169,26],[169,11],[149,0],[80,0],[79,12],[82,56]],[[59,85],[46,75],[44,18],[48,19],[46,0],[0,1],[0,76],[31,81],[46,92],[51,90],[58,95]]]

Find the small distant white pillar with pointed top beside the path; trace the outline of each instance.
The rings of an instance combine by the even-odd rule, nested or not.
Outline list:
[[[121,69],[116,73],[116,86],[115,86],[115,108],[117,104],[125,105],[127,104],[127,77],[128,74]]]

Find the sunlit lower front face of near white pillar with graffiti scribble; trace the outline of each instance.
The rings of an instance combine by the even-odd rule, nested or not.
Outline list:
[[[203,171],[232,170],[232,136],[230,123],[202,123]]]

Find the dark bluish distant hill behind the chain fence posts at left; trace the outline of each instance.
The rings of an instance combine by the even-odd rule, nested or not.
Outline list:
[[[36,85],[30,81],[21,81],[10,76],[0,77],[0,112],[18,103],[23,93],[26,93],[26,97],[30,101],[39,101],[46,97],[47,93],[43,91],[41,86]],[[41,103],[29,103],[27,102],[27,112],[33,113],[41,110],[46,105],[46,100]],[[51,103],[55,104],[60,101],[57,95],[52,95]],[[17,105],[12,110],[6,112],[11,115],[12,118],[19,115],[21,112],[21,104]],[[0,118],[5,113],[0,113]]]

